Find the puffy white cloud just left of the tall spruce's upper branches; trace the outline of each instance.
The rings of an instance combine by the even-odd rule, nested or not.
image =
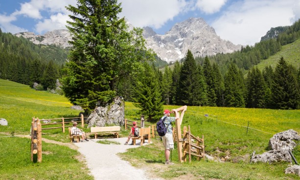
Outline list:
[[[68,15],[58,13],[56,15],[52,15],[50,19],[38,22],[35,25],[35,29],[39,34],[55,29],[66,29],[67,20],[69,20]]]

